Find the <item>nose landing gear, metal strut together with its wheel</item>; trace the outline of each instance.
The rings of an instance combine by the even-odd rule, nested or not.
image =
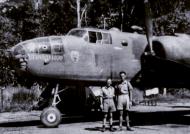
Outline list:
[[[61,102],[59,93],[64,91],[58,91],[59,84],[52,90],[53,100],[51,106],[45,108],[40,116],[40,120],[46,127],[58,127],[61,122],[61,112],[56,108],[56,105]]]

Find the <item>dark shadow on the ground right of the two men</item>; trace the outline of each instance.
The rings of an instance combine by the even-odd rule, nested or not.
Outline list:
[[[148,113],[131,113],[132,126],[179,124],[190,125],[190,111],[167,111],[167,112],[148,112]]]

